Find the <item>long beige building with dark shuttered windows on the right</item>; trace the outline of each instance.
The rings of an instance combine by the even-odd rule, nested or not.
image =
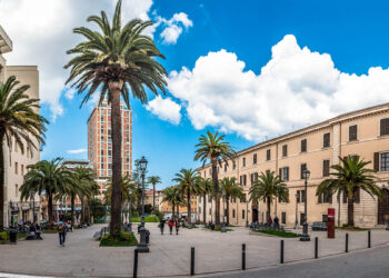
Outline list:
[[[377,185],[383,189],[383,200],[359,191],[355,199],[355,222],[360,227],[376,227],[389,221],[389,103],[340,115],[336,118],[273,138],[238,152],[236,166],[230,162],[218,168],[219,179],[235,177],[242,185],[246,200],[230,202],[230,224],[266,221],[266,202],[252,203],[249,189],[258,175],[275,171],[289,189],[289,201],[273,200],[271,217],[292,227],[302,224],[306,196],[308,224],[327,221],[328,208],[336,209],[336,225],[347,222],[347,199],[336,196],[316,196],[318,185],[329,177],[330,166],[339,157],[360,156],[375,169]],[[307,195],[302,170],[310,170]],[[210,178],[210,165],[197,169],[201,177]],[[198,211],[202,221],[202,198]],[[222,208],[221,203],[221,208]],[[207,198],[206,220],[215,220],[215,201]],[[221,217],[222,217],[221,209]]]

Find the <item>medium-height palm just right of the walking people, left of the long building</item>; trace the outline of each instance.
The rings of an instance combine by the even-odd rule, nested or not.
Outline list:
[[[192,169],[181,169],[176,173],[173,181],[178,182],[182,193],[187,195],[188,224],[191,226],[191,197],[199,192],[199,177],[197,171]]]

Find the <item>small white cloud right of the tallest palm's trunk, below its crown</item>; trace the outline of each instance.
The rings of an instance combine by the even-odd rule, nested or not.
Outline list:
[[[146,106],[146,109],[158,116],[161,120],[170,121],[173,125],[180,123],[181,106],[170,98],[162,99],[160,96],[157,96]]]

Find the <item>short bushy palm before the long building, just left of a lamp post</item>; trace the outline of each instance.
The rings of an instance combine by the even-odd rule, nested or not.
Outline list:
[[[251,186],[249,193],[251,201],[258,202],[259,200],[263,200],[263,202],[267,203],[267,219],[270,218],[270,206],[273,198],[289,200],[287,185],[283,183],[280,177],[276,176],[273,171],[261,172],[258,180]]]

